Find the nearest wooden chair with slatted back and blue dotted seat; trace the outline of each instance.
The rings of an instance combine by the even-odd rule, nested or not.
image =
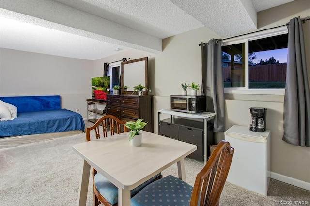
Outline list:
[[[131,198],[131,206],[218,206],[233,160],[233,152],[229,142],[222,140],[197,174],[194,187],[169,175],[138,192]]]

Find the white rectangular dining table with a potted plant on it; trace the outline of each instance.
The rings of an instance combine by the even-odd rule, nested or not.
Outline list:
[[[139,147],[130,145],[129,132],[73,146],[84,160],[79,206],[86,205],[91,167],[118,187],[119,206],[130,206],[130,190],[174,163],[177,163],[178,177],[186,181],[184,158],[197,150],[197,146],[151,132],[140,132],[142,145]]]

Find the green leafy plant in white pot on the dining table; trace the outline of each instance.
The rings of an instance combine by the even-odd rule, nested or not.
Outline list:
[[[130,129],[129,133],[129,141],[132,146],[140,146],[142,144],[142,134],[139,133],[147,123],[143,121],[143,119],[138,119],[136,122],[128,121],[125,124],[125,127]]]

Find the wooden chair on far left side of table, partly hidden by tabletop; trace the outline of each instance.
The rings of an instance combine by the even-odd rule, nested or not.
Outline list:
[[[95,131],[96,139],[100,139],[100,127],[102,127],[103,137],[121,133],[123,130],[127,132],[127,128],[124,126],[126,122],[119,120],[113,115],[105,115],[98,119],[96,123],[89,128],[85,129],[86,141],[91,141],[91,131]],[[94,138],[93,138],[94,139]],[[93,175],[93,205],[98,206],[102,203],[104,206],[118,206],[118,188],[113,185],[106,177],[97,173],[95,169],[92,172]],[[131,196],[142,190],[146,185],[151,182],[162,178],[161,173],[147,180],[137,188],[131,190]]]

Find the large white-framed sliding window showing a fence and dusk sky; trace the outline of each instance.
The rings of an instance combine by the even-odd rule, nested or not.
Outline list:
[[[284,94],[286,27],[222,41],[225,93]]]

